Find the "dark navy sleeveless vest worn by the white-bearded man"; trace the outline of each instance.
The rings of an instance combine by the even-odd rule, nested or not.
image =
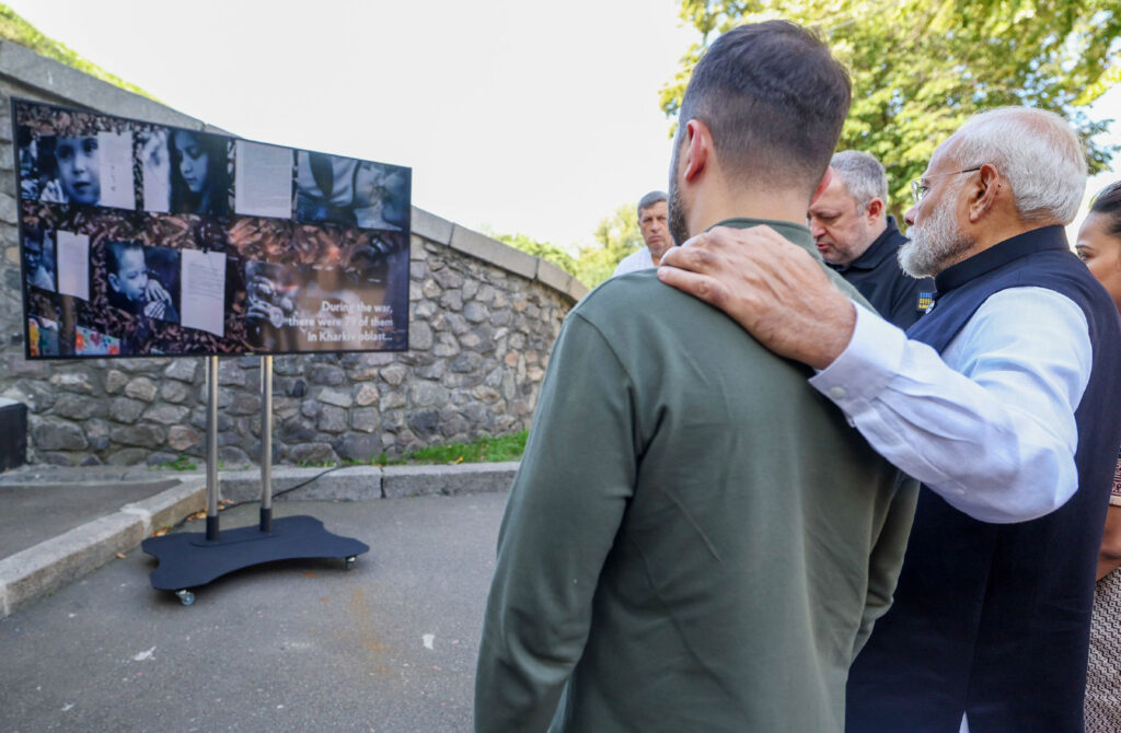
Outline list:
[[[1094,574],[1121,445],[1117,306],[1059,226],[1006,240],[935,279],[907,332],[939,353],[984,300],[1035,286],[1086,315],[1090,383],[1075,421],[1078,490],[1032,521],[992,525],[924,486],[895,604],[849,677],[847,733],[1081,733]],[[1031,328],[1030,323],[1023,324]]]

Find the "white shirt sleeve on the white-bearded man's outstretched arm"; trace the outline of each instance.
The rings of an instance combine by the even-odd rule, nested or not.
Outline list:
[[[847,347],[809,382],[880,455],[982,521],[1043,517],[1074,494],[1074,410],[1092,363],[1074,301],[1001,290],[941,356],[855,307]]]

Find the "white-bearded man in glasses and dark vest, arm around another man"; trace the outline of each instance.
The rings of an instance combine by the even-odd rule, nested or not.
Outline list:
[[[938,296],[906,334],[767,228],[663,259],[663,281],[815,368],[810,383],[924,483],[895,605],[850,674],[850,733],[1083,730],[1121,443],[1121,324],[1063,229],[1084,185],[1062,118],[969,120],[912,184],[899,261]]]

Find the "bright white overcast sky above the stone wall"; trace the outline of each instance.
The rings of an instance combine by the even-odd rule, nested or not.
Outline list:
[[[697,38],[678,0],[6,1],[182,112],[409,166],[415,205],[563,245],[665,188],[658,92]]]

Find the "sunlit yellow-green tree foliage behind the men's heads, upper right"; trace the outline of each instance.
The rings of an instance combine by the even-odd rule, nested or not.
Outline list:
[[[1118,151],[1091,140],[1108,122],[1084,111],[1121,81],[1118,0],[682,0],[680,17],[701,41],[661,90],[667,115],[720,33],[772,18],[812,28],[852,75],[840,148],[883,161],[897,212],[938,143],[985,109],[1063,114],[1087,143],[1091,173]]]

